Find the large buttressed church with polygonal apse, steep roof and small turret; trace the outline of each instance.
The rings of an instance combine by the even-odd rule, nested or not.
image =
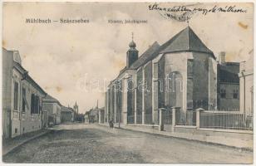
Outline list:
[[[106,91],[105,121],[159,124],[159,110],[176,107],[178,121],[192,125],[193,110],[217,110],[217,61],[190,27],[140,57],[133,40],[129,47],[126,67]]]

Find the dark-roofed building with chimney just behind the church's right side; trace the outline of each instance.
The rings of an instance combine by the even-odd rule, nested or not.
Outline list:
[[[239,111],[239,62],[225,61],[225,52],[219,54],[218,109]]]

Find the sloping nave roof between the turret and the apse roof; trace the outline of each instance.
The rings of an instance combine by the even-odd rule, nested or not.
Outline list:
[[[155,41],[152,46],[150,46],[140,57],[137,61],[135,61],[131,66],[130,69],[137,69],[140,66],[143,66],[146,62],[155,58],[155,56],[159,53],[160,45],[157,41]]]

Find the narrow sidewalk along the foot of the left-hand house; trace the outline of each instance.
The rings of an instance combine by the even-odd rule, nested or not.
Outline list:
[[[32,131],[26,134],[19,135],[12,139],[2,139],[2,156],[8,154],[13,149],[16,149],[18,146],[26,144],[28,141],[36,139],[37,137],[40,137],[43,134],[47,134],[48,132],[50,132],[50,130],[48,129],[39,129],[37,131]]]

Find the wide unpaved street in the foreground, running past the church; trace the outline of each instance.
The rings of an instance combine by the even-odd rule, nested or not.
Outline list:
[[[253,152],[98,125],[61,125],[23,144],[7,163],[251,164]]]

